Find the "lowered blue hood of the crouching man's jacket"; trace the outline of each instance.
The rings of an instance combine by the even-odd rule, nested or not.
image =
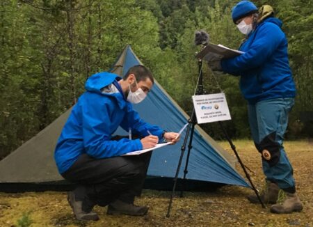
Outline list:
[[[120,77],[111,72],[98,72],[87,79],[85,88],[87,91],[102,93],[102,88],[112,84],[117,78]]]

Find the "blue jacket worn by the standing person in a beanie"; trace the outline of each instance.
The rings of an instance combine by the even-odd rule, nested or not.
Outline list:
[[[241,92],[249,103],[296,95],[281,26],[280,19],[264,19],[241,45],[245,54],[221,61],[224,72],[241,75]]]

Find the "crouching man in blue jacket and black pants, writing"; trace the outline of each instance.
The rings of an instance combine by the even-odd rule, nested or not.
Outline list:
[[[131,103],[144,100],[153,84],[143,65],[130,68],[123,78],[99,72],[86,81],[87,91],[74,105],[54,154],[63,178],[77,185],[67,196],[77,219],[99,219],[92,211],[95,205],[109,205],[108,214],[147,213],[146,206],[134,205],[134,197],[141,194],[151,152],[121,155],[152,148],[160,139],[179,139],[175,132],[145,123],[132,109]],[[112,137],[119,126],[129,138]]]

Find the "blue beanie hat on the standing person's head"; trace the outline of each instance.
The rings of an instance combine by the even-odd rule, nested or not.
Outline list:
[[[257,13],[257,6],[255,6],[255,4],[251,1],[239,1],[239,3],[232,8],[232,20],[236,23],[238,19],[246,17],[252,13]]]

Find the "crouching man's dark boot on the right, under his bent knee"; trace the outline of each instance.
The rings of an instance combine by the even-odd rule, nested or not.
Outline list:
[[[147,214],[149,208],[146,206],[138,206],[131,203],[124,203],[116,200],[108,206],[107,214],[126,214],[131,216],[143,216]]]

